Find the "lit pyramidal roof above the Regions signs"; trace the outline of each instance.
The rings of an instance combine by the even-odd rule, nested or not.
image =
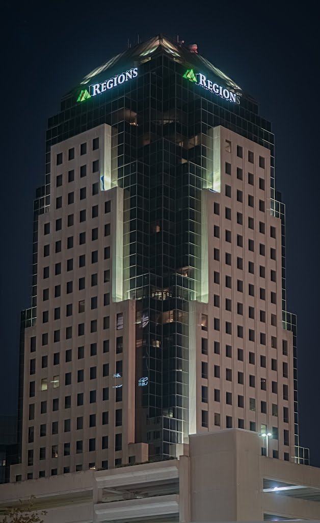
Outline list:
[[[104,71],[111,69],[111,67],[114,67],[114,65],[117,63],[133,60],[141,63],[146,61],[149,57],[151,58],[152,55],[157,54],[159,51],[168,53],[169,55],[173,56],[176,61],[186,66],[192,65],[196,70],[201,70],[202,67],[205,67],[207,70],[212,71],[215,76],[221,78],[223,82],[227,84],[227,86],[235,89],[238,91],[238,93],[242,93],[242,89],[238,84],[229,78],[229,76],[220,71],[220,69],[218,69],[215,65],[206,60],[203,56],[189,50],[182,43],[176,42],[167,36],[164,37],[163,35],[157,35],[155,37],[149,38],[145,42],[138,43],[136,46],[127,49],[120,54],[116,54],[113,56],[113,58],[108,60],[108,62],[105,62],[104,64],[100,65],[100,67],[97,67],[91,71],[91,73],[87,74],[82,79],[80,85],[88,84],[94,76],[100,75]]]

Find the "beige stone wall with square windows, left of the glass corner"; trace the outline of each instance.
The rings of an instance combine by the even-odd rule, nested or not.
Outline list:
[[[93,139],[96,138],[99,139],[99,147],[93,150]],[[87,152],[81,155],[80,146],[84,143],[87,144]],[[68,160],[72,148],[75,157]],[[60,153],[63,162],[57,165],[57,154]],[[99,168],[93,172],[96,161],[99,162]],[[121,301],[123,189],[110,188],[110,162],[111,128],[105,124],[54,145],[51,149],[51,204],[49,212],[39,217],[37,324],[27,328],[25,333],[22,464],[13,468],[13,481],[19,474],[25,480],[32,477],[31,474],[34,478],[39,477],[40,471],[46,476],[54,470],[57,474],[66,470],[73,472],[77,465],[78,469],[82,467],[83,470],[88,469],[89,464],[101,468],[105,461],[108,461],[109,467],[114,467],[115,459],[127,462],[128,444],[135,442],[135,303],[131,300]],[[80,169],[84,165],[87,173],[81,177]],[[72,170],[74,180],[69,181],[72,177],[68,173]],[[102,174],[105,186],[110,189],[108,191],[100,189]],[[81,199],[84,189],[86,195]],[[72,193],[73,197],[69,196]],[[105,209],[106,202],[110,202],[110,212],[108,208]],[[85,211],[86,217],[81,216],[81,211]],[[81,218],[85,219],[81,221]],[[60,230],[56,230],[57,220],[61,220],[61,229],[58,226]],[[49,234],[45,234],[44,230],[47,224],[50,224]],[[83,244],[80,244],[80,233],[86,234]],[[68,248],[68,238],[71,237],[73,247]],[[121,242],[118,238],[121,238]],[[61,242],[61,245],[57,242]],[[83,255],[85,266],[80,267],[79,257]],[[44,271],[48,270],[46,267],[49,267],[48,278],[44,277]],[[85,278],[84,289],[79,289],[80,278]],[[67,292],[67,286],[71,285],[72,292]],[[60,292],[57,286],[61,286]],[[44,299],[45,289],[49,289],[49,299]],[[55,292],[60,295],[55,297]],[[66,315],[67,306],[68,309],[72,306],[72,314],[69,316]],[[123,314],[122,328],[117,325],[119,313]],[[78,334],[79,324],[84,324],[84,335]],[[67,338],[68,327],[72,327],[70,338]],[[43,335],[48,336],[48,343],[43,344]],[[117,352],[116,339],[120,336],[123,337],[123,349]],[[36,338],[34,352],[30,351],[32,337]],[[94,349],[91,353],[91,344],[97,344],[96,354]],[[67,361],[66,351],[69,350],[72,355],[71,360]],[[83,351],[83,357],[78,357],[78,350]],[[45,357],[48,362],[43,367]],[[57,360],[54,361],[54,358],[59,358],[56,365],[54,362]],[[35,360],[33,374],[30,374],[30,360]],[[122,376],[114,378],[118,361],[122,361]],[[84,379],[78,382],[78,371],[82,370]],[[71,373],[71,384],[65,384],[70,376],[68,373]],[[48,390],[41,390],[42,379],[47,380]],[[55,388],[53,385],[57,383],[53,383],[54,379],[59,380],[59,386]],[[33,397],[29,397],[30,382],[34,382],[31,385],[34,386]],[[123,401],[115,401],[118,389],[114,386],[117,384],[123,385]],[[103,400],[105,388],[109,388],[109,399]],[[96,391],[96,399],[92,403],[90,391]],[[84,404],[77,406],[79,393],[84,394]],[[65,400],[66,396],[70,396],[70,408],[65,408],[65,401],[68,401]],[[53,411],[53,400],[56,399],[58,410]],[[41,402],[46,402],[45,413],[41,413]],[[29,419],[30,405],[34,409],[34,415],[30,416],[32,419]],[[122,424],[118,426],[116,410],[122,410]],[[89,426],[90,415],[96,416],[96,424],[92,427]],[[102,424],[102,416],[109,417],[108,423]],[[80,417],[83,427],[77,429],[77,418]],[[70,430],[65,431],[65,420],[68,419],[70,421],[66,423],[70,424]],[[58,423],[57,434],[52,434],[53,422]],[[33,441],[28,438],[29,427],[33,427]],[[44,429],[45,435],[41,436]],[[122,434],[121,451],[115,451],[115,434]],[[105,436],[109,438],[108,448],[102,448],[102,438]],[[90,439],[96,440],[94,451],[89,451]],[[80,453],[76,451],[77,441],[82,441]],[[70,444],[69,456],[64,456],[65,443]],[[57,446],[57,457],[53,457],[56,449],[53,446]],[[40,448],[45,448],[43,460],[39,459]],[[29,450],[33,450],[33,464],[30,465]],[[137,451],[136,448],[134,450]],[[141,452],[143,450],[139,449],[138,454]],[[141,456],[136,456],[137,460]]]

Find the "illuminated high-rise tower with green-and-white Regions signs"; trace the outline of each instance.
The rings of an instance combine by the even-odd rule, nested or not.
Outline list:
[[[176,456],[229,427],[308,462],[274,136],[196,51],[140,43],[49,119],[13,480]]]

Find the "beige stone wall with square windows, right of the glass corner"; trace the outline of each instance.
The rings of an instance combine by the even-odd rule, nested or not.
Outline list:
[[[262,425],[270,432],[275,427],[278,439],[269,440],[269,456],[291,459],[293,346],[292,333],[282,328],[281,221],[270,214],[270,152],[223,127],[214,129],[212,140],[220,192],[208,190],[206,194],[208,248],[203,253],[207,257],[209,298],[208,303],[193,305],[196,312],[191,329],[196,326],[197,332],[190,383],[197,397],[197,414],[191,433],[231,426],[260,433]],[[237,155],[237,146],[242,157]],[[249,154],[253,163],[248,161]],[[207,330],[202,327],[202,314],[208,317]],[[207,339],[208,355],[202,354],[202,338]],[[283,354],[283,340],[288,344],[288,356]],[[215,353],[215,342],[220,354],[217,347]],[[238,359],[238,349],[243,351],[243,361]],[[260,357],[265,358],[265,367]],[[207,378],[202,377],[202,363],[207,364]],[[215,366],[220,377],[215,376]],[[288,386],[288,400],[283,396],[283,385]],[[207,387],[207,403],[202,401],[202,386]],[[218,401],[215,389],[220,391]],[[232,404],[227,404],[227,394]],[[288,419],[283,416],[283,407],[288,409]],[[202,424],[202,411],[208,412],[208,427]],[[285,445],[284,430],[289,431],[289,445]]]

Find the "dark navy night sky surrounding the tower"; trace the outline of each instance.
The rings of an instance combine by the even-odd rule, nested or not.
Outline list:
[[[287,204],[287,297],[298,314],[300,444],[318,446],[318,26],[311,5],[281,1],[9,3],[2,11],[0,414],[17,403],[20,310],[29,306],[32,206],[44,183],[46,120],[94,67],[159,32],[188,43],[260,103],[276,136]],[[318,158],[317,158],[318,160]]]

